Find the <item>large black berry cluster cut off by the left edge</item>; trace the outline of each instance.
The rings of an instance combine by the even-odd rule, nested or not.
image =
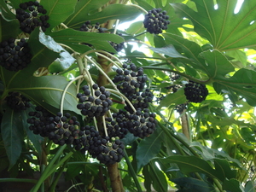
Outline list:
[[[25,38],[15,44],[15,38],[0,43],[0,65],[9,71],[19,71],[31,62],[32,55]]]

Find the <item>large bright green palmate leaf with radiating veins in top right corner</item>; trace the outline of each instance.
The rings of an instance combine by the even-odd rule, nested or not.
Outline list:
[[[241,49],[256,45],[256,1],[244,1],[238,13],[234,13],[237,1],[193,0],[197,12],[182,3],[171,3],[177,14],[191,20],[195,32],[207,38],[214,49],[221,51]],[[203,15],[203,16],[202,16]]]

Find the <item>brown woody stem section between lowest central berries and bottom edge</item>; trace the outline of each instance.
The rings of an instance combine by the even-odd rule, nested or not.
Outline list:
[[[125,192],[122,178],[118,169],[119,164],[108,165],[108,175],[110,177],[113,192]]]

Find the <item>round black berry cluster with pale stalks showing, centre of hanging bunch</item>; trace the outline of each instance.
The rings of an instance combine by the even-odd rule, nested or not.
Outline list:
[[[92,90],[88,85],[84,85],[84,93],[78,93],[79,103],[77,108],[81,110],[81,113],[89,118],[100,117],[108,112],[112,101],[109,98],[110,92],[105,87],[99,87],[97,84],[92,85]]]

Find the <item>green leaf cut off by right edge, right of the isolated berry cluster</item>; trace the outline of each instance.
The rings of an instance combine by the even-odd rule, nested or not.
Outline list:
[[[256,106],[256,72],[241,68],[231,78],[214,79],[213,87],[216,92],[221,93],[223,90],[229,94],[244,96],[247,103]]]

